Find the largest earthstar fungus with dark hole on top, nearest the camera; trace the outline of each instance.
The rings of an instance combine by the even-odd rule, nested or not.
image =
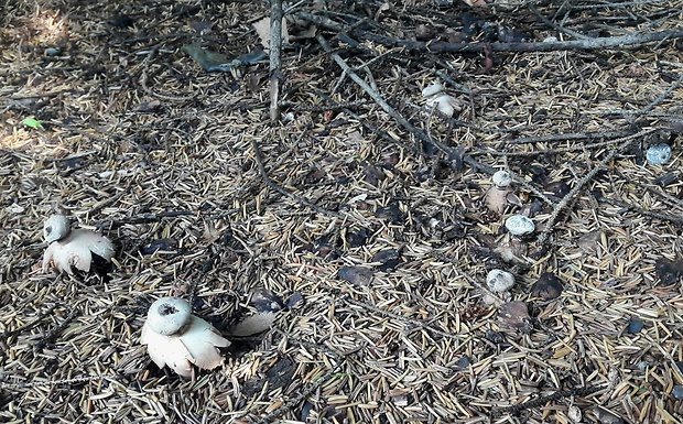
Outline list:
[[[142,326],[140,343],[147,345],[150,357],[163,368],[192,377],[192,365],[214,369],[223,362],[219,347],[230,346],[207,322],[192,315],[187,301],[161,297],[152,303]]]

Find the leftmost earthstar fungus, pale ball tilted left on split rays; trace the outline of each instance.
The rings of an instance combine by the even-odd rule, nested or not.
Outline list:
[[[51,267],[68,274],[74,273],[74,268],[89,272],[93,254],[107,262],[113,258],[113,246],[108,238],[88,229],[72,230],[64,215],[53,215],[45,221],[43,237],[51,242],[43,256],[43,272]]]

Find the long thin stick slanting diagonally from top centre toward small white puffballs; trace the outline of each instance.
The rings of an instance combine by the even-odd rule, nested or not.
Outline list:
[[[424,141],[426,143],[432,143],[432,144],[436,145],[442,152],[448,154],[449,156],[458,155],[458,152],[455,149],[445,145],[441,141],[431,139],[422,130],[415,128],[405,118],[403,118],[394,108],[389,106],[389,104],[387,104],[387,101],[384,101],[384,99],[379,95],[379,93],[373,90],[372,87],[370,87],[365,80],[362,80],[362,78],[360,78],[351,69],[351,67],[346,63],[346,61],[344,61],[342,58],[342,56],[339,56],[338,54],[336,54],[336,53],[334,53],[332,51],[332,47],[329,46],[329,43],[327,43],[325,37],[323,37],[322,35],[317,35],[315,39],[317,40],[318,43],[321,43],[323,48],[325,48],[325,52],[327,52],[332,56],[332,58],[337,63],[337,65],[339,65],[339,67],[343,70],[345,70],[346,74],[356,84],[358,84],[360,86],[360,88],[362,88],[362,90],[366,91],[372,98],[372,100],[375,100],[375,102],[380,108],[382,108],[382,110],[384,110],[391,118],[393,118],[393,120],[395,120],[399,124],[401,124],[401,127],[405,128],[410,133],[412,133],[415,138],[420,139],[421,141]],[[463,157],[463,161],[465,163],[467,163],[468,165],[470,165],[471,167],[474,167],[476,170],[479,170],[479,171],[484,171],[484,172],[486,172],[488,174],[494,174],[496,172],[496,170],[494,167],[484,165],[484,164],[475,161],[474,159],[471,159],[468,155],[465,155]]]

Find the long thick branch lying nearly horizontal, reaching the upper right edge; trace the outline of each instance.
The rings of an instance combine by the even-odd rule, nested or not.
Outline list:
[[[675,40],[683,37],[683,30],[652,32],[649,34],[631,34],[622,36],[607,36],[600,39],[533,42],[533,43],[448,43],[421,42],[398,40],[386,35],[379,35],[366,31],[355,30],[356,36],[366,39],[390,47],[405,47],[411,51],[430,53],[457,53],[457,52],[484,52],[490,46],[494,52],[561,52],[561,51],[592,51],[608,47],[622,47],[638,45],[662,40]]]

